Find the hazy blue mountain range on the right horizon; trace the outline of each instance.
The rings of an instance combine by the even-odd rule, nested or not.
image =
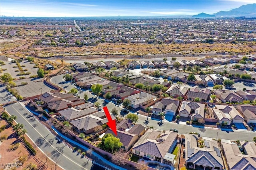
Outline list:
[[[192,16],[192,18],[208,18],[208,17],[230,17],[230,16],[255,16],[256,4],[242,5],[230,11],[220,11],[215,14],[201,13]]]

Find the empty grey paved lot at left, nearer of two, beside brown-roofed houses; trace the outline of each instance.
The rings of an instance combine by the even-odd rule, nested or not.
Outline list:
[[[15,89],[18,89],[22,97],[32,97],[51,91],[52,88],[45,85],[42,80],[43,79],[27,79],[27,85],[15,87]],[[21,82],[26,82],[26,80],[22,79],[15,81],[16,85],[19,85]]]

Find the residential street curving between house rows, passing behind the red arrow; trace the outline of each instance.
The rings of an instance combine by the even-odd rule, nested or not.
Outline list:
[[[60,87],[63,87],[66,90],[70,90],[74,88],[74,85],[71,85],[70,83],[64,83],[62,82],[63,75],[58,75],[56,77],[53,77],[51,79],[52,83],[58,84]],[[79,91],[80,94],[78,94],[80,97],[84,96],[84,93],[88,94],[88,97],[95,97],[88,93],[87,91]],[[98,98],[98,102],[101,104],[104,102],[103,99]],[[121,110],[120,107],[115,106],[113,103],[108,103],[107,104],[108,110],[111,111],[113,108],[118,109],[118,111]],[[138,123],[143,125],[144,120],[146,119],[145,116],[139,115],[139,121]],[[149,118],[150,119],[150,118]],[[229,139],[229,140],[248,140],[252,141],[253,136],[256,136],[256,132],[251,132],[251,131],[237,131],[234,130],[233,132],[226,132],[226,131],[221,131],[218,129],[210,129],[210,128],[198,128],[198,127],[192,127],[191,125],[182,125],[182,124],[176,124],[176,123],[169,123],[169,122],[164,122],[162,126],[158,125],[159,121],[156,120],[150,120],[148,126],[149,127],[154,127],[156,129],[161,129],[161,130],[169,130],[170,128],[175,128],[178,130],[179,133],[185,134],[187,132],[198,132],[201,134],[201,136],[204,137],[210,137],[210,138],[216,138],[217,137],[217,132],[218,132],[218,138],[222,139]]]

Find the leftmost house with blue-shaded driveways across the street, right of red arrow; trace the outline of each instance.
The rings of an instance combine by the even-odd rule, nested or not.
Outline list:
[[[164,112],[165,115],[175,115],[180,105],[180,101],[167,97],[156,103],[152,108],[152,114],[159,115]]]

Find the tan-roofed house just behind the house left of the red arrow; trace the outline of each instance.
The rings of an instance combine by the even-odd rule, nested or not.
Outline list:
[[[73,121],[75,119],[90,115],[92,113],[98,112],[98,109],[95,107],[89,107],[84,110],[79,110],[79,107],[71,107],[62,111],[59,111],[59,114],[66,120],[66,121]]]

